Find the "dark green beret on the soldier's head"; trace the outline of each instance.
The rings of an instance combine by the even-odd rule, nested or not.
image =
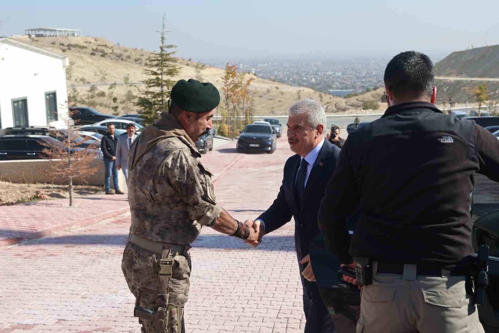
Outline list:
[[[193,78],[175,83],[170,97],[178,107],[197,113],[211,111],[220,103],[220,93],[215,85]]]

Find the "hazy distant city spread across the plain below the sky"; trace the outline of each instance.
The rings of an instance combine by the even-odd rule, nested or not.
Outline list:
[[[383,74],[389,59],[233,59],[240,71],[248,71],[260,78],[343,97],[352,92],[383,86]],[[224,68],[227,61],[202,60],[211,66]]]

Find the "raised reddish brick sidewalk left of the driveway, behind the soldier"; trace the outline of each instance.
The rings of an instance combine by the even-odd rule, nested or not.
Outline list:
[[[228,142],[203,156],[215,179],[243,157],[224,153],[225,146],[233,145]],[[220,158],[221,154],[224,158]],[[126,195],[93,194],[75,198],[74,206],[68,204],[69,199],[54,199],[0,207],[0,247],[93,224],[129,209]]]

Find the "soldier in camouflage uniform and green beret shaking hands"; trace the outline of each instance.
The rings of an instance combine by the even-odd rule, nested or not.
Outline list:
[[[145,128],[128,154],[132,223],[121,267],[143,332],[185,332],[189,244],[203,225],[258,242],[257,224],[243,224],[217,204],[212,173],[198,159],[194,142],[211,129],[219,102],[213,84],[178,81],[169,112]]]

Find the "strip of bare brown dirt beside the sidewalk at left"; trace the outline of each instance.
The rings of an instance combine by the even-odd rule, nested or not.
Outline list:
[[[104,187],[90,185],[73,186],[73,197],[103,192]],[[69,198],[67,185],[19,184],[0,180],[0,206],[33,200]]]

